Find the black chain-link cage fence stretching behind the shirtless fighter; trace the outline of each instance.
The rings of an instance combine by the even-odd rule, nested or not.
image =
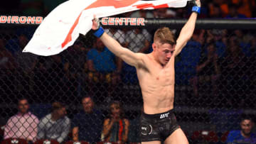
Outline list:
[[[125,48],[149,53],[159,23],[104,28]],[[190,143],[224,143],[243,115],[255,118],[256,33],[241,23],[203,26],[176,57],[175,113]],[[178,29],[169,27],[177,37]],[[35,29],[0,27],[1,140],[140,142],[143,101],[135,68],[91,33],[58,55],[21,52]],[[120,120],[112,123],[114,117]]]

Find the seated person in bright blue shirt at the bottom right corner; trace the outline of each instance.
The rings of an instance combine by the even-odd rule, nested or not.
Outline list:
[[[241,130],[230,131],[226,143],[256,143],[256,135],[252,133],[254,125],[251,118],[242,118],[240,122]]]

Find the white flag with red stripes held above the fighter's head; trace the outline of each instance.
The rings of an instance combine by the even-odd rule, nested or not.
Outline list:
[[[23,52],[56,55],[73,45],[79,33],[92,28],[92,19],[139,9],[184,7],[190,0],[69,0],[51,11],[36,29]]]

